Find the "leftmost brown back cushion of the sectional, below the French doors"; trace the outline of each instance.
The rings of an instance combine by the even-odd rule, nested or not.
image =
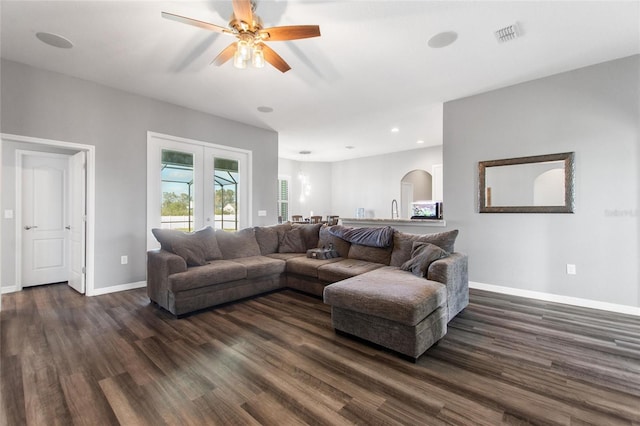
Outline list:
[[[200,266],[209,260],[222,259],[215,231],[210,226],[192,233],[161,228],[154,228],[151,232],[161,249],[181,256],[189,266]]]

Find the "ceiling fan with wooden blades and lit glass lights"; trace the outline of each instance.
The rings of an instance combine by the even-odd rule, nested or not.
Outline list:
[[[265,62],[268,62],[285,73],[291,67],[265,42],[318,37],[320,36],[320,27],[318,25],[290,25],[262,28],[262,20],[254,13],[255,6],[251,0],[233,0],[233,15],[228,28],[168,12],[162,12],[162,17],[205,30],[235,36],[238,41],[224,48],[213,59],[212,64],[220,66],[233,58],[233,64],[236,68],[246,68],[249,62],[257,68],[262,68]]]

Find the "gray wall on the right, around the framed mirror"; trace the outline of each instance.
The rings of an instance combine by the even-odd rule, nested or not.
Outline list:
[[[640,306],[639,79],[635,55],[445,103],[446,219],[472,281]],[[478,213],[478,161],[566,151],[575,214]]]

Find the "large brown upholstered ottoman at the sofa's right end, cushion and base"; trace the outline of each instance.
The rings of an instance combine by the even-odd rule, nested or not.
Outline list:
[[[387,266],[324,289],[331,323],[414,362],[447,332],[447,289]]]

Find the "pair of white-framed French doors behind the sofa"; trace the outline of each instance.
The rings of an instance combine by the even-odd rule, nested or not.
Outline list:
[[[194,231],[250,226],[251,152],[149,133],[147,247],[152,228]]]

